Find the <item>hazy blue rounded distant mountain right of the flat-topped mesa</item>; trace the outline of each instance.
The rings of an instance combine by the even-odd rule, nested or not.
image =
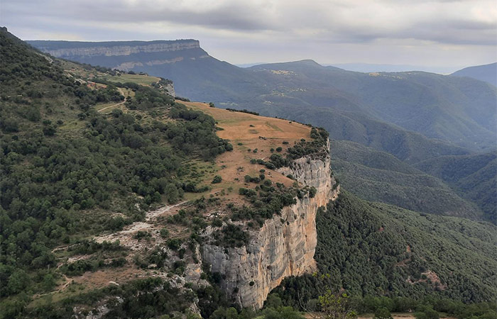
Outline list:
[[[362,114],[464,147],[474,148],[474,142],[488,147],[496,130],[497,90],[473,79],[425,72],[364,74],[309,62],[249,70],[272,84],[272,95],[333,109],[342,109],[346,100]],[[280,97],[266,99],[278,103]]]

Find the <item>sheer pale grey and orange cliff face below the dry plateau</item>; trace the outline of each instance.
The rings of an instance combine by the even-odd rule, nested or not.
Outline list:
[[[330,164],[329,155],[307,155],[280,169],[300,183],[314,186],[317,193],[314,198],[297,198],[297,203],[283,208],[280,216],[266,220],[251,233],[249,245],[204,245],[202,261],[211,265],[211,272],[223,275],[222,289],[240,306],[261,308],[268,293],[286,276],[316,269],[317,208],[326,206],[339,193]]]

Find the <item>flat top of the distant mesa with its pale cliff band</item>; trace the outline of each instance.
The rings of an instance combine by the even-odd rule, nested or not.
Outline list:
[[[33,47],[54,57],[89,58],[97,56],[126,56],[138,53],[171,52],[189,49],[199,49],[198,40],[155,40],[155,41],[109,41],[109,42],[80,42],[80,41],[27,41]]]

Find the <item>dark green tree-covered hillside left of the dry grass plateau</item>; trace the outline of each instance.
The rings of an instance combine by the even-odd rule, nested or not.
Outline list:
[[[143,221],[154,203],[175,203],[199,191],[202,174],[190,175],[197,165],[186,161],[212,159],[231,145],[217,137],[212,117],[152,87],[90,85],[4,29],[0,43],[0,313],[14,318],[30,305],[30,318],[67,318],[67,309],[51,303],[36,308],[32,298],[50,297],[66,276],[132,267],[119,241],[84,238],[121,230]],[[126,106],[138,111],[121,111],[123,94]],[[97,111],[104,108],[111,110]],[[76,254],[94,255],[60,264],[67,259],[53,250],[60,245],[81,245]],[[131,283],[129,289],[154,285],[163,281]],[[66,297],[72,292],[64,291]],[[185,296],[166,288],[168,293],[178,303],[155,311],[185,310]]]

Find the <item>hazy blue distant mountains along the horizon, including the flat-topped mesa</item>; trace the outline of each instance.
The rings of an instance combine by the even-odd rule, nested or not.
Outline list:
[[[310,122],[322,121],[312,116],[317,108],[355,112],[471,150],[488,149],[495,141],[497,89],[467,77],[360,73],[323,67],[312,60],[240,68],[211,57],[197,40],[163,44],[178,45],[178,50],[141,49],[156,42],[110,43],[125,47],[115,52],[108,52],[109,43],[28,43],[44,52],[69,50],[57,52],[70,53],[66,57],[77,62],[166,77],[175,82],[179,95],[223,107],[256,109],[290,119],[305,109]]]

